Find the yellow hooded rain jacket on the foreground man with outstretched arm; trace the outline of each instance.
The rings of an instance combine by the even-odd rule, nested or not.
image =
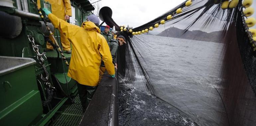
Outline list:
[[[79,27],[58,19],[53,14],[49,14],[48,18],[73,45],[67,74],[69,77],[82,85],[97,86],[101,63],[100,55],[102,55],[108,74],[115,74],[107,41],[94,23],[83,22],[82,27]]]

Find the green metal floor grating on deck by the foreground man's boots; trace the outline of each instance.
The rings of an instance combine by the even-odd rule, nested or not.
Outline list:
[[[63,111],[54,120],[54,122],[52,123],[52,126],[78,126],[79,125],[83,116],[83,112],[80,110],[82,109],[82,105],[78,95],[75,96],[74,101],[75,103],[64,106],[65,108],[63,108]]]

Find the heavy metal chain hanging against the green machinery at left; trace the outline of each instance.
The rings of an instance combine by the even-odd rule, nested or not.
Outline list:
[[[47,60],[46,53],[45,52],[43,52],[43,53],[39,52],[39,45],[37,45],[35,43],[34,37],[32,35],[28,35],[28,39],[32,44],[33,51],[37,55],[38,63],[42,66],[42,68],[44,70],[44,73],[41,74],[41,79],[45,82],[45,85],[46,85],[45,90],[50,89],[50,90],[54,91],[55,87],[53,87],[52,84],[49,83],[49,72],[48,72],[48,70],[47,70],[47,68],[44,64],[44,61]]]

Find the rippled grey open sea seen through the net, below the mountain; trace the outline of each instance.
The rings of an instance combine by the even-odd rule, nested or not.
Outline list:
[[[222,43],[141,35],[132,40],[141,53],[156,96],[180,108],[200,125],[223,125]],[[139,41],[141,42],[141,41]],[[139,75],[130,86],[145,90]],[[216,89],[215,89],[216,88]]]

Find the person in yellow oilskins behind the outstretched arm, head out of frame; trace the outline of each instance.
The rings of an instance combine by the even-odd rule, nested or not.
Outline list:
[[[72,10],[69,0],[45,0],[46,2],[50,2],[52,6],[52,13],[57,16],[59,19],[62,20],[69,20],[69,18],[72,16]],[[66,51],[66,53],[71,53],[71,46],[70,42],[68,41],[67,37],[64,35],[63,32],[60,31],[61,35],[61,43],[63,50]],[[53,39],[50,38],[52,41]],[[47,42],[46,44],[46,51],[52,51],[53,46]]]

